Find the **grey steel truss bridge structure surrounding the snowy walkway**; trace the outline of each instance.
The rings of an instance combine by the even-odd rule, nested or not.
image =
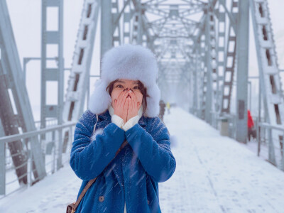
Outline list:
[[[57,31],[46,27],[50,8],[58,11]],[[246,142],[249,30],[253,28],[260,84],[258,104],[264,111],[258,112],[258,141],[262,128],[268,134],[270,162],[277,164],[273,146],[277,143],[282,148],[283,163],[283,70],[278,66],[267,0],[84,0],[65,92],[63,1],[42,0],[41,9],[41,114],[37,128],[9,11],[6,1],[0,1],[0,195],[6,194],[6,150],[17,180],[23,184],[31,185],[47,174],[43,146],[56,148],[53,171],[62,167],[62,155],[72,141],[70,126],[74,127],[82,115],[84,100],[89,97],[90,66],[98,33],[101,55],[124,43],[150,48],[158,60],[162,98],[175,85],[175,95],[183,101],[189,94],[186,98],[192,114],[215,128],[227,119],[233,126],[230,136]],[[58,57],[48,58],[50,45],[56,46]],[[30,60],[34,59],[26,58],[24,65]],[[55,66],[48,60],[54,60]],[[45,102],[50,81],[58,82],[56,105]],[[236,103],[235,111],[232,102]],[[48,129],[48,119],[56,119],[58,126]],[[45,135],[48,132],[52,139]],[[272,138],[276,138],[274,142]]]

